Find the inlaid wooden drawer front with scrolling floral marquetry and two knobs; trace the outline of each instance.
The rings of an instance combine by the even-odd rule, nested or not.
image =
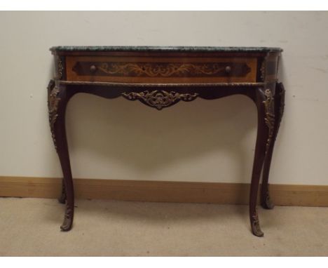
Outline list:
[[[68,81],[254,83],[257,58],[67,56]]]

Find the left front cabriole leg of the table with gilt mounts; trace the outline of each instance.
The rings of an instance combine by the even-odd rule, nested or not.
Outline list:
[[[74,217],[74,188],[65,130],[65,111],[70,97],[71,95],[68,94],[66,86],[57,85],[54,81],[50,81],[48,86],[50,130],[62,166],[64,189],[66,190],[67,197],[64,222],[60,227],[62,231],[69,231],[71,229]],[[62,201],[62,199],[60,199],[60,201]]]

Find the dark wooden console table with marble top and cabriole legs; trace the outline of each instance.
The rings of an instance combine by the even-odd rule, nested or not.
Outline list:
[[[73,95],[121,97],[160,110],[180,101],[242,94],[254,101],[258,112],[250,223],[255,236],[264,235],[257,214],[257,195],[262,179],[261,206],[273,208],[268,175],[284,109],[285,89],[277,78],[282,49],[57,46],[50,51],[55,57],[55,77],[48,84],[48,109],[50,130],[64,177],[59,199],[66,203],[62,231],[71,229],[74,217],[74,187],[65,131],[65,110]]]

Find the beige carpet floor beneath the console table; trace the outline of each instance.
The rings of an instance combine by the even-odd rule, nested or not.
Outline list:
[[[60,232],[55,199],[0,198],[1,256],[328,255],[328,208],[77,200],[74,228]]]

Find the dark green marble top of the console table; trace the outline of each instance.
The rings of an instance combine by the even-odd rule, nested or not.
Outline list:
[[[281,48],[242,46],[53,46],[50,51],[281,52]]]

